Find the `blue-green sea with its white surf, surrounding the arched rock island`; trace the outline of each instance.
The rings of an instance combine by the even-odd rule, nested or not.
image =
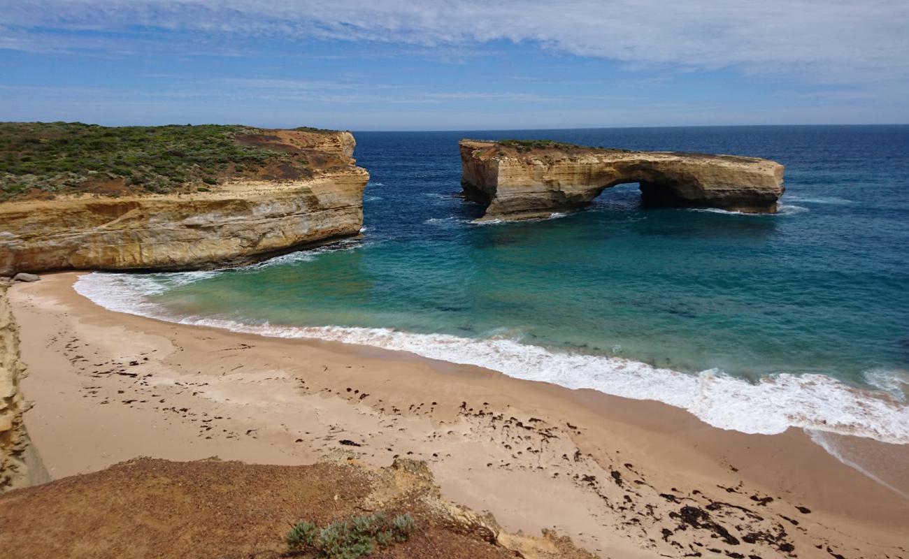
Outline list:
[[[749,433],[909,442],[909,126],[355,133],[364,238],[220,272],[85,276],[106,306],[375,344],[654,399]],[[474,225],[458,140],[756,155],[777,215],[644,209]]]

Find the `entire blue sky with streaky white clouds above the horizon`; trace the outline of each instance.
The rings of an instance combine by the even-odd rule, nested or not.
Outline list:
[[[0,0],[0,121],[909,123],[909,0]]]

